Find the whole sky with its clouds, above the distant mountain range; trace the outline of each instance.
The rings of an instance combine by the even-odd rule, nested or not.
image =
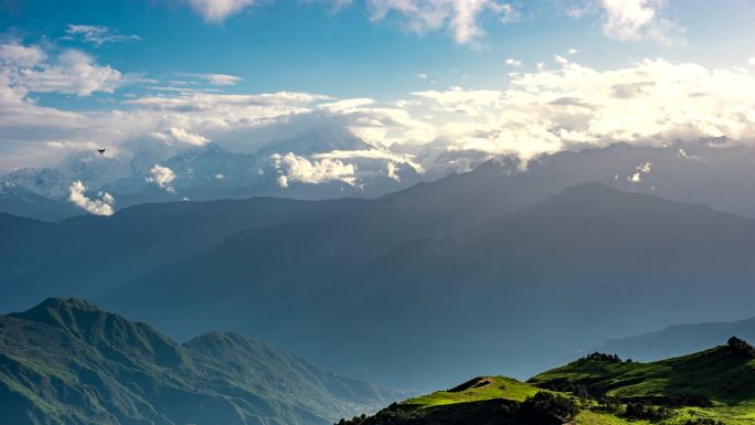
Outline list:
[[[753,22],[752,0],[0,0],[0,171],[320,127],[490,155],[751,142]]]

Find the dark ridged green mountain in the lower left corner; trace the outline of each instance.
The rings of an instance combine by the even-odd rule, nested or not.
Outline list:
[[[329,424],[393,396],[237,333],[178,344],[82,300],[0,316],[3,424]]]

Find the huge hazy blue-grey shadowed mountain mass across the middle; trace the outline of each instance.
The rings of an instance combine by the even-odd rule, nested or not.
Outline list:
[[[0,245],[0,302],[73,294],[172,336],[240,330],[425,389],[527,375],[669,321],[752,316],[755,222],[602,184],[564,190],[570,167],[610,149],[625,147],[525,172],[488,163],[369,201],[168,203],[40,223]],[[596,180],[636,188],[604,179],[616,168]]]

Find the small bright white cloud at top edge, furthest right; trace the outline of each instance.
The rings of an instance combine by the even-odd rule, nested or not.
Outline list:
[[[667,0],[600,0],[603,33],[619,41],[652,39],[673,43],[684,29],[661,17]]]

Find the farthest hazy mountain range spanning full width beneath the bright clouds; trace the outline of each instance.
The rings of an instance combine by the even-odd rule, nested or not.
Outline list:
[[[0,212],[43,221],[85,214],[68,201],[76,181],[89,199],[108,193],[113,210],[118,211],[145,202],[249,196],[374,199],[449,177],[435,187],[468,185],[467,191],[476,192],[468,195],[476,201],[486,192],[493,199],[511,196],[511,190],[518,198],[528,196],[528,191],[531,200],[542,199],[570,185],[600,182],[755,217],[755,201],[748,195],[755,188],[753,148],[725,139],[651,145],[616,144],[527,161],[499,156],[485,162],[490,153],[472,155],[433,144],[386,147],[348,129],[320,129],[272,140],[252,152],[228,151],[212,142],[135,148],[131,157],[123,158],[79,152],[51,168],[20,169],[0,177]],[[470,176],[449,176],[457,172]],[[485,202],[504,203],[493,199]]]

